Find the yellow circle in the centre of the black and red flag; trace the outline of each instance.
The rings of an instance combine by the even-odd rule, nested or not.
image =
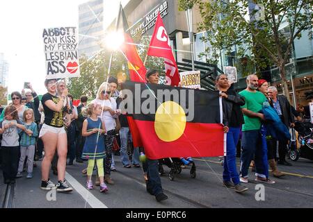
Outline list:
[[[162,103],[155,114],[154,130],[159,139],[172,142],[182,136],[186,128],[186,113],[173,101]]]

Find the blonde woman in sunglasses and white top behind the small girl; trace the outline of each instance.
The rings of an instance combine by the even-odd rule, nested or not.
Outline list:
[[[104,142],[106,146],[106,158],[104,159],[104,180],[109,185],[114,185],[111,179],[111,164],[112,164],[112,148],[115,137],[115,119],[118,118],[120,112],[117,110],[115,99],[111,98],[111,89],[109,83],[102,83],[97,91],[97,98],[92,103],[99,103],[102,106],[102,121],[106,126],[106,135]],[[96,182],[95,185],[98,185]]]

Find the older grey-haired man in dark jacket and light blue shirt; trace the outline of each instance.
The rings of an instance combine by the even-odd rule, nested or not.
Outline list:
[[[278,95],[277,88],[274,86],[268,87],[268,96],[271,98],[273,108],[278,113],[278,116],[280,116],[280,119],[282,119],[284,125],[288,128],[294,127],[294,114],[292,114],[291,105],[286,96]],[[287,139],[279,141],[278,154],[280,155],[280,159],[278,164],[291,166],[292,164],[286,161],[287,142]]]

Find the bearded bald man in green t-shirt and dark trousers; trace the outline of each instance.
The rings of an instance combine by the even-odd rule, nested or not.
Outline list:
[[[247,77],[247,88],[239,92],[246,100],[245,105],[241,106],[243,112],[243,119],[245,123],[242,127],[241,139],[241,182],[248,182],[248,169],[251,160],[255,157],[256,176],[255,180],[261,182],[273,183],[272,180],[266,178],[265,171],[267,169],[267,148],[266,144],[262,146],[261,126],[264,114],[259,111],[262,110],[262,105],[266,102],[266,97],[261,92],[257,91],[258,78],[255,74]],[[266,155],[266,163],[264,162]]]

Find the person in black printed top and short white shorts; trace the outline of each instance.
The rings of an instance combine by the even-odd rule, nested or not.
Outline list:
[[[41,189],[67,192],[72,191],[72,187],[65,180],[67,136],[63,127],[63,104],[67,96],[67,88],[62,94],[56,96],[56,79],[46,79],[45,87],[47,93],[42,96],[41,103],[45,113],[45,121],[40,130],[39,137],[45,148],[45,157],[42,160],[42,181]],[[58,185],[54,185],[49,179],[49,169],[54,157],[58,153]]]

